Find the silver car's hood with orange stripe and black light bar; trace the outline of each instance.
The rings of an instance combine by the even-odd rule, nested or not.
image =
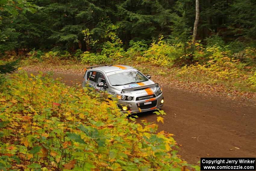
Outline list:
[[[143,87],[143,86],[152,85],[152,84],[155,84],[155,83],[151,80],[148,80],[140,83],[126,84],[126,85],[114,86],[114,87],[117,92],[120,92],[123,95],[138,97],[138,96],[146,96],[148,94],[152,94],[156,92],[157,86],[145,88],[142,90],[130,90],[125,92],[122,92],[122,90],[129,89],[129,88]]]

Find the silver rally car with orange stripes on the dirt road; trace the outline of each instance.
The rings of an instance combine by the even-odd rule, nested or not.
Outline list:
[[[118,99],[122,111],[145,112],[164,105],[162,89],[137,69],[126,65],[97,65],[86,68],[83,87],[89,84],[97,92]]]

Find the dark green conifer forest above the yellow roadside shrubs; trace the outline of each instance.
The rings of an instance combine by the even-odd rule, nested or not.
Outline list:
[[[116,33],[124,49],[130,47],[131,40],[149,45],[160,34],[170,44],[188,46],[195,21],[193,0],[0,3],[0,52],[15,50],[17,55],[32,49],[99,52],[111,41],[109,32]],[[254,1],[206,0],[199,8],[196,40],[206,46],[229,46],[232,52],[256,46]]]

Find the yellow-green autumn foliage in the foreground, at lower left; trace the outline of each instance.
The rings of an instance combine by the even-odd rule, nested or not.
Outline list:
[[[172,134],[136,124],[115,101],[42,73],[11,75],[0,92],[0,170],[180,170]],[[157,114],[164,114],[163,111]],[[158,117],[158,122],[164,122]],[[192,166],[193,167],[193,166]]]

